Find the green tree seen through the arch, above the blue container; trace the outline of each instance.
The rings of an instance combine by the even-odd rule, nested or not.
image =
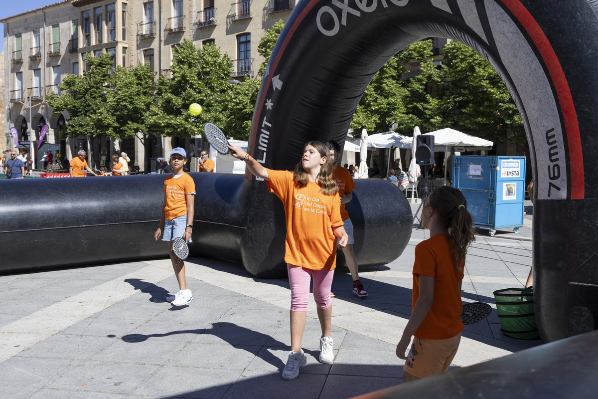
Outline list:
[[[517,106],[499,75],[480,54],[451,41],[444,47],[442,77],[438,111],[446,126],[494,142],[506,139],[509,130],[514,133],[511,141],[526,143]]]

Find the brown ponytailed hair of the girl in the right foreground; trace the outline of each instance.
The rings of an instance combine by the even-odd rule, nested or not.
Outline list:
[[[453,266],[461,269],[469,244],[475,240],[474,218],[467,210],[467,200],[460,190],[441,185],[429,196],[429,205],[440,217],[440,223],[449,230]]]

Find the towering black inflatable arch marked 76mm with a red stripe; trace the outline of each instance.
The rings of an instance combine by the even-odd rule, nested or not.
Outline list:
[[[262,82],[251,154],[268,167],[289,169],[304,142],[343,141],[365,87],[398,50],[430,36],[470,45],[507,85],[533,151],[541,336],[556,340],[594,330],[597,234],[585,222],[597,212],[598,185],[591,182],[598,164],[591,154],[598,150],[598,79],[590,72],[597,15],[595,2],[585,0],[301,1]]]

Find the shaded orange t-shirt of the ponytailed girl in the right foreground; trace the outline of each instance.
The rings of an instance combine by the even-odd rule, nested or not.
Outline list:
[[[419,297],[420,275],[434,277],[434,303],[414,336],[423,339],[448,339],[465,328],[460,318],[463,304],[459,292],[463,266],[462,264],[460,270],[453,267],[447,234],[434,234],[417,244],[413,264],[411,310]]]

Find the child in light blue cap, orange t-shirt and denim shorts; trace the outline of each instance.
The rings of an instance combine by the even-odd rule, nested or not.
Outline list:
[[[174,306],[182,306],[193,300],[191,290],[187,288],[185,279],[185,263],[172,251],[172,242],[177,237],[183,237],[185,242],[191,242],[193,229],[195,182],[183,166],[187,163],[187,153],[184,148],[177,147],[170,151],[172,175],[164,180],[164,206],[160,218],[160,227],[154,233],[155,240],[162,236],[168,242],[170,261],[175,269],[179,282],[179,292],[166,298]]]

